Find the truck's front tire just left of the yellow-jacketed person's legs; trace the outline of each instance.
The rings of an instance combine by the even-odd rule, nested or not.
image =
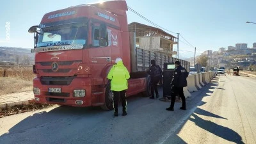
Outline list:
[[[113,93],[110,90],[110,83],[106,86],[106,92],[105,92],[105,102],[104,105],[100,106],[103,110],[111,111],[113,110]]]

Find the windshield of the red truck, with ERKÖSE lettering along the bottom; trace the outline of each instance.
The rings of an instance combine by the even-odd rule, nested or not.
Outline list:
[[[87,24],[84,22],[42,28],[38,36],[37,47],[86,45],[87,31]]]

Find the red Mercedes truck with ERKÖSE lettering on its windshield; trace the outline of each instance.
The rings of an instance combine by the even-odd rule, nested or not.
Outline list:
[[[33,92],[38,103],[113,109],[108,72],[117,57],[131,74],[127,97],[150,95],[150,59],[174,58],[135,46],[125,1],[82,4],[46,13],[34,33]],[[184,61],[185,63],[185,61]],[[187,65],[189,65],[187,63]]]

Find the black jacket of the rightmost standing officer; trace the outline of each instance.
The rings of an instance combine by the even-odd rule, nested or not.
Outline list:
[[[188,86],[187,77],[188,71],[179,65],[174,69],[171,85],[178,88],[186,87]]]

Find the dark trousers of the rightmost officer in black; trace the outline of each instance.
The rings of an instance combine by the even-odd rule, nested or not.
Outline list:
[[[185,96],[184,96],[184,93],[183,93],[183,88],[178,88],[178,87],[175,87],[175,86],[172,87],[172,100],[171,100],[170,108],[174,107],[174,103],[175,103],[175,99],[176,99],[177,95],[179,95],[181,97],[182,107],[186,108],[186,99],[185,99]]]

